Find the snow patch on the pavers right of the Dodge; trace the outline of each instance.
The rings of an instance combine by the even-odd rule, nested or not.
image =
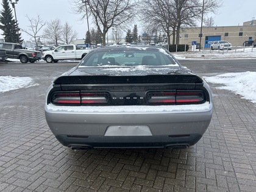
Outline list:
[[[213,84],[223,84],[224,86],[218,88],[233,91],[256,103],[256,72],[226,73],[204,79]]]

